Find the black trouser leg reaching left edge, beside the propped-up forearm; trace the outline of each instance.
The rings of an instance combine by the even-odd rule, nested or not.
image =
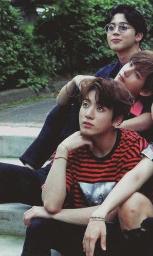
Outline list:
[[[0,163],[0,203],[43,205],[41,184],[51,165],[37,171],[28,167]]]

